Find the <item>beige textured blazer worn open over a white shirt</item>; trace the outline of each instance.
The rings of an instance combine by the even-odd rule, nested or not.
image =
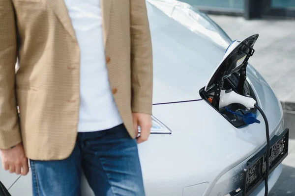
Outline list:
[[[132,112],[151,114],[152,107],[146,2],[100,1],[109,80],[134,138]],[[79,55],[64,0],[0,0],[0,149],[23,142],[30,159],[70,155],[77,136]]]

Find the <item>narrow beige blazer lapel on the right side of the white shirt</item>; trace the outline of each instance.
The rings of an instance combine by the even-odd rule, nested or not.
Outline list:
[[[104,46],[106,47],[107,37],[110,26],[110,13],[111,13],[112,0],[100,0],[101,11],[102,11],[102,27],[103,27],[103,40]]]

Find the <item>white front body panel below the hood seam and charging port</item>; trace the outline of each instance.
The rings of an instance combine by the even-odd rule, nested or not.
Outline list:
[[[164,190],[173,187],[172,193],[177,187],[180,190],[203,182],[209,182],[206,192],[209,194],[222,175],[266,143],[264,123],[236,128],[203,100],[155,105],[153,115],[173,134],[151,135],[147,143],[139,146],[150,195],[157,193],[157,186]],[[271,135],[281,121],[281,116],[277,117],[273,118],[277,123],[269,123]],[[263,121],[261,115],[258,120]]]

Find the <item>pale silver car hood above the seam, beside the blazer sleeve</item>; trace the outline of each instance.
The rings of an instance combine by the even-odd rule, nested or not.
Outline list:
[[[225,47],[147,3],[153,49],[153,103],[201,99]],[[217,33],[218,34],[218,33]]]

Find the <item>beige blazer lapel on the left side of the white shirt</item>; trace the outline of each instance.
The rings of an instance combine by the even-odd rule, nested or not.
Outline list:
[[[52,7],[61,24],[68,31],[70,36],[76,41],[75,31],[72,26],[71,19],[68,15],[68,10],[64,3],[64,0],[47,0],[47,2]]]

